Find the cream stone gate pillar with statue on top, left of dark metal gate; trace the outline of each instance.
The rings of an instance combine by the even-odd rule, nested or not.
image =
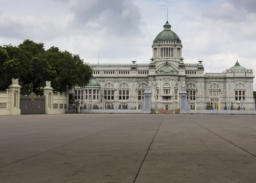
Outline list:
[[[11,115],[20,115],[20,88],[19,79],[12,78],[12,84],[9,86],[11,93]]]

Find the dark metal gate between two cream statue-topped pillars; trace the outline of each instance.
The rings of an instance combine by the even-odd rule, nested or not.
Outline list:
[[[20,96],[20,114],[45,114],[45,97]]]

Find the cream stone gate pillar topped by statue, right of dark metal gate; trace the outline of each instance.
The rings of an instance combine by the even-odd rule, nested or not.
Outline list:
[[[51,82],[46,81],[46,87],[44,87],[44,96],[45,96],[45,114],[53,114],[53,88],[51,87]]]

